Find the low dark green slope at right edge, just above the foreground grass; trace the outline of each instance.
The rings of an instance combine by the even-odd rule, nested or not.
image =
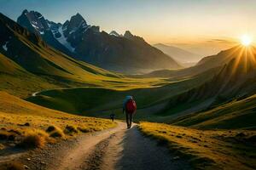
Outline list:
[[[174,124],[201,128],[253,128],[256,129],[256,95],[218,105],[208,111],[183,116]]]

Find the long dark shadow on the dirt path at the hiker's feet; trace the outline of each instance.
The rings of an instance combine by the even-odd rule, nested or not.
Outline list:
[[[165,170],[181,169],[173,164],[169,150],[159,146],[156,141],[144,137],[137,125],[126,130],[122,140],[124,150],[117,162],[115,169],[124,170]]]

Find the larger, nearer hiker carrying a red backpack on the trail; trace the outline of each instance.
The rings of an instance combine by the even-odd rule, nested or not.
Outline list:
[[[127,128],[131,128],[132,118],[137,110],[137,105],[132,98],[132,96],[126,96],[124,105],[123,105],[123,113],[126,115]]]

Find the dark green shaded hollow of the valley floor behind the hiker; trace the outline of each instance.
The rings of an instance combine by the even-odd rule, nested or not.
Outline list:
[[[138,113],[144,108],[159,105],[173,95],[180,94],[189,88],[194,88],[212,77],[212,72],[207,72],[196,77],[182,80],[166,80],[160,87],[136,88],[131,82],[124,83],[123,87],[109,88],[66,88],[55,89],[39,93],[36,97],[27,100],[61,111],[90,116],[107,116],[110,111],[120,113],[123,99],[126,95],[133,95],[137,101]],[[125,80],[125,79],[124,79]],[[124,81],[119,80],[119,83]],[[143,83],[143,79],[133,79]],[[145,79],[148,80],[148,79]],[[103,83],[106,85],[107,82]],[[148,82],[144,82],[144,85]],[[104,113],[102,113],[104,112]],[[149,116],[145,113],[144,116]],[[151,115],[152,116],[152,115]]]

